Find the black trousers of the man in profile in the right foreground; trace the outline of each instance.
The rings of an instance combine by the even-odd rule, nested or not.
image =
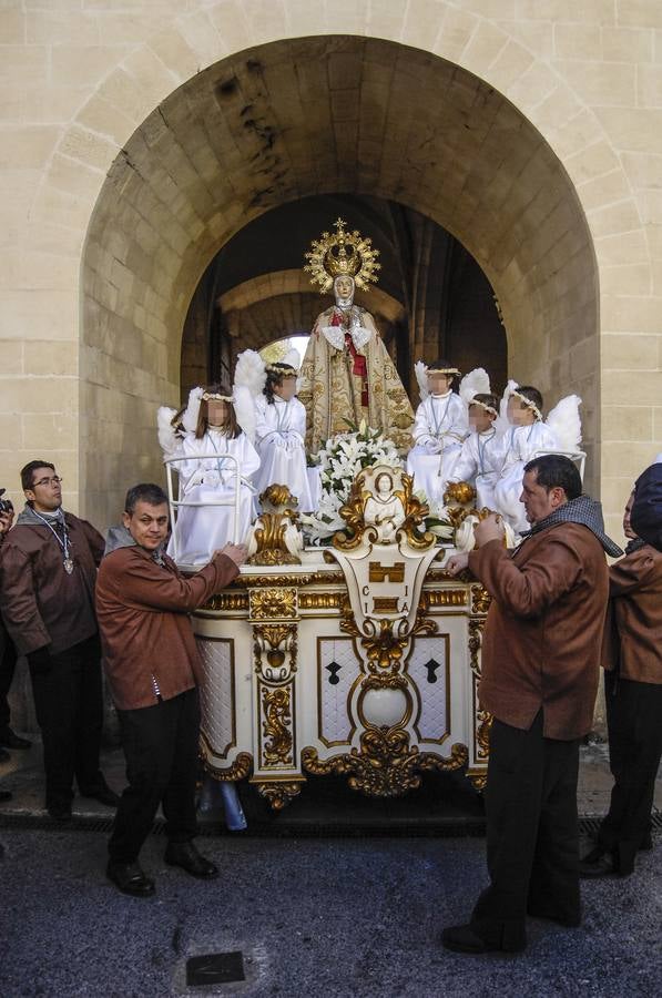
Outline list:
[[[581,919],[577,776],[579,740],[542,735],[542,711],[529,731],[495,719],[486,790],[490,886],[471,916],[486,941],[526,941],[526,917],[568,925]]]

